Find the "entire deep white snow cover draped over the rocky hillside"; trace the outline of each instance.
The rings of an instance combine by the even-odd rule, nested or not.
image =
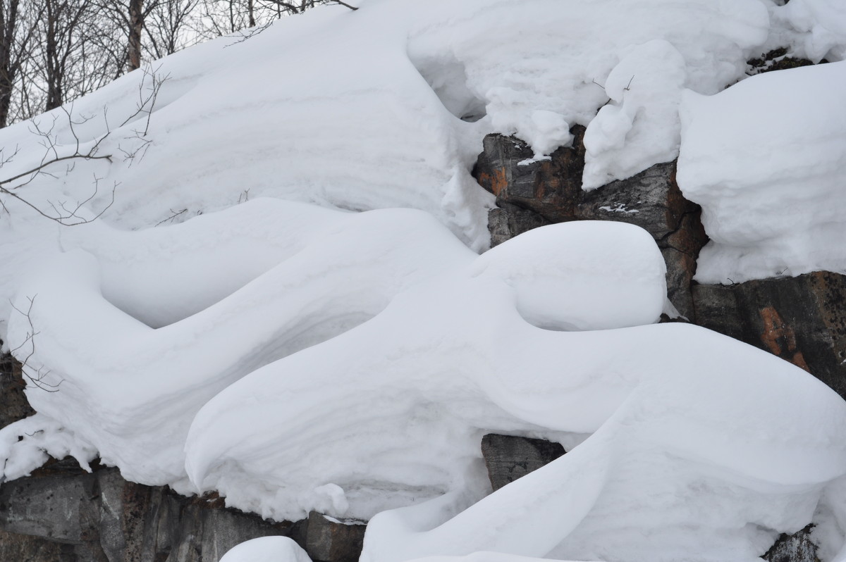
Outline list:
[[[470,177],[491,132],[542,158],[587,126],[585,188],[681,144],[714,240],[700,276],[743,244],[741,277],[772,275],[767,252],[841,232],[846,63],[720,92],[773,46],[843,59],[843,21],[833,0],[370,0],[129,74],[76,102],[73,130],[41,117],[58,155],[108,133],[114,157],[15,191],[50,212],[96,183],[91,224],[3,198],[0,333],[42,387],[0,431],[3,477],[101,456],[277,519],[373,517],[366,562],[752,560],[812,519],[823,558],[846,558],[843,400],[738,341],[652,325],[664,264],[635,226],[546,226],[478,255],[492,197]],[[31,126],[0,131],[20,148],[4,177],[44,156]],[[770,205],[793,211],[783,226]],[[841,267],[825,248],[813,266]],[[487,495],[490,431],[569,453]],[[251,556],[303,554],[226,559]]]

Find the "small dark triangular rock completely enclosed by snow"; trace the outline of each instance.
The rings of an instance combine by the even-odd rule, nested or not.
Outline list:
[[[481,439],[481,454],[494,491],[549,464],[564,452],[560,444],[544,439],[497,434]]]

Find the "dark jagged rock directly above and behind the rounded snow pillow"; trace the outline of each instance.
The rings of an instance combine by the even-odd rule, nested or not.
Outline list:
[[[498,208],[488,216],[492,245],[554,222],[622,221],[640,226],[655,238],[667,262],[670,302],[693,319],[690,282],[707,237],[699,206],[684,199],[678,189],[675,164],[656,164],[584,192],[585,129],[574,127],[573,133],[573,147],[559,148],[547,161],[530,161],[532,150],[519,139],[486,136],[474,176],[497,196]]]

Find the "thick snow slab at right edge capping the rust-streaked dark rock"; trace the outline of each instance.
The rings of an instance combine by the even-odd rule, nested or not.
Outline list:
[[[678,186],[711,237],[698,281],[846,273],[844,91],[846,62],[686,92]]]

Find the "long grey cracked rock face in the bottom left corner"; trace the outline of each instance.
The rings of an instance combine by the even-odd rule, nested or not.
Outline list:
[[[289,523],[126,482],[114,468],[91,474],[59,461],[0,487],[2,548],[74,562],[201,562],[255,537],[285,535]],[[2,550],[0,550],[2,551]]]

